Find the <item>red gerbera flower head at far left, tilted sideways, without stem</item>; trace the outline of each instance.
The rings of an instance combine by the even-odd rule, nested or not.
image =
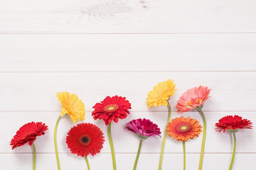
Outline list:
[[[31,146],[36,140],[37,136],[41,136],[45,134],[45,130],[47,130],[48,126],[42,124],[42,122],[34,122],[27,123],[20,127],[20,130],[16,132],[16,135],[11,139],[10,145],[12,145],[12,149],[25,145],[29,142]]]

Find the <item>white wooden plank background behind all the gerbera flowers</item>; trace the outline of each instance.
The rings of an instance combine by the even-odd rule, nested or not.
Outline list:
[[[0,0],[0,169],[32,169],[28,144],[11,150],[22,126],[42,121],[49,130],[36,139],[37,170],[56,170],[54,126],[61,111],[56,93],[75,93],[85,104],[84,122],[99,126],[106,141],[88,156],[92,170],[111,170],[107,127],[93,120],[92,106],[107,95],[126,97],[130,115],[112,124],[117,169],[131,170],[139,140],[124,130],[138,118],[150,119],[164,133],[167,107],[147,108],[157,83],[174,79],[178,89],[212,88],[203,108],[207,119],[204,170],[227,170],[231,134],[214,125],[240,115],[256,125],[256,0]],[[196,112],[182,116],[198,119]],[[82,121],[79,121],[81,123]],[[85,160],[65,144],[75,124],[68,116],[58,126],[62,170],[86,169]],[[256,127],[255,127],[256,128]],[[256,130],[237,136],[233,170],[255,169]],[[197,170],[202,135],[186,142],[187,170]],[[143,142],[137,170],[157,170],[162,138]],[[167,137],[162,170],[183,169],[182,142]]]

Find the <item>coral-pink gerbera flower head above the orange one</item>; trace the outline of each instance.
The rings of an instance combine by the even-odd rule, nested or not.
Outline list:
[[[209,99],[211,89],[207,86],[194,87],[182,94],[178,100],[177,110],[183,113],[192,109],[200,110],[204,106],[204,102]]]

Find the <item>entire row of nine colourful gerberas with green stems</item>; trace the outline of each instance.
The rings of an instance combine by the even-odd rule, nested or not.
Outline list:
[[[157,86],[153,87],[153,91],[148,93],[148,97],[146,98],[146,104],[148,108],[151,106],[167,106],[168,108],[168,118],[166,123],[166,129],[164,130],[160,159],[159,159],[159,170],[162,169],[162,158],[164,152],[164,145],[166,141],[166,136],[169,135],[177,141],[182,141],[183,150],[184,150],[184,170],[186,169],[186,149],[185,142],[188,139],[193,139],[194,137],[198,137],[200,133],[203,133],[202,137],[202,147],[201,154],[199,160],[199,170],[202,170],[203,164],[203,155],[204,155],[204,146],[206,139],[206,119],[202,108],[207,99],[209,99],[209,93],[211,89],[207,86],[199,86],[194,87],[187,90],[182,94],[180,99],[177,101],[177,110],[178,113],[183,113],[189,110],[197,110],[203,120],[203,126],[200,125],[200,122],[196,119],[191,119],[191,117],[176,117],[171,120],[171,105],[169,103],[169,99],[171,96],[175,94],[175,84],[173,80],[168,79],[165,82],[161,82],[157,84]],[[56,152],[56,160],[58,170],[61,170],[60,161],[58,157],[58,146],[57,146],[57,128],[58,122],[64,115],[69,115],[72,121],[76,122],[78,120],[85,119],[85,105],[77,97],[75,94],[70,94],[68,92],[57,93],[56,97],[62,104],[61,115],[58,117],[56,121],[56,126],[54,130],[54,145]],[[131,109],[131,104],[126,97],[119,96],[107,96],[100,103],[95,104],[93,106],[94,111],[92,112],[93,118],[102,119],[106,126],[108,126],[108,139],[110,143],[111,153],[112,153],[112,161],[113,161],[113,170],[116,170],[116,161],[115,161],[115,150],[111,137],[111,123],[114,121],[118,122],[119,119],[125,119],[128,114],[130,114],[128,109]],[[242,119],[242,117],[238,115],[228,115],[226,117],[222,117],[218,123],[216,123],[216,131],[225,132],[228,130],[234,136],[234,149],[233,155],[231,159],[231,163],[229,166],[229,170],[232,169],[234,156],[236,152],[236,135],[239,129],[243,128],[252,128],[252,122],[247,119]],[[124,129],[134,132],[139,138],[139,148],[137,152],[137,157],[135,158],[135,163],[133,170],[136,169],[137,161],[139,158],[139,153],[141,149],[142,142],[150,136],[160,136],[160,129],[156,124],[148,119],[133,119],[128,122]],[[29,144],[34,148],[34,163],[33,170],[36,169],[36,148],[34,145],[34,141],[37,136],[41,136],[45,134],[45,130],[48,130],[48,126],[43,124],[42,122],[31,122],[23,125],[17,132],[16,135],[11,139],[10,145],[12,149],[22,146],[25,144]],[[73,154],[77,154],[78,156],[84,157],[87,163],[88,170],[90,170],[90,165],[88,162],[88,155],[96,155],[100,152],[101,148],[103,148],[103,143],[105,141],[105,137],[103,136],[103,132],[101,129],[90,123],[81,123],[72,127],[70,131],[67,133],[66,144],[67,147]]]

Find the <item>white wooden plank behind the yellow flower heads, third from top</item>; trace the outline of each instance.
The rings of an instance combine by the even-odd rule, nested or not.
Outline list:
[[[187,89],[202,85],[213,89],[204,111],[255,111],[248,101],[255,101],[256,72],[0,73],[0,77],[0,111],[5,112],[59,112],[61,103],[55,95],[61,91],[77,94],[89,112],[108,95],[126,97],[134,111],[166,111],[161,106],[148,109],[146,97],[167,79],[174,79],[178,89],[170,99],[172,107]]]

